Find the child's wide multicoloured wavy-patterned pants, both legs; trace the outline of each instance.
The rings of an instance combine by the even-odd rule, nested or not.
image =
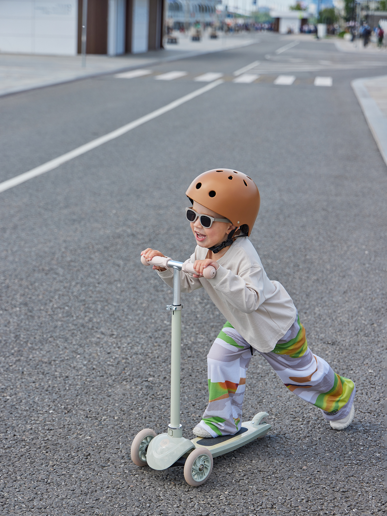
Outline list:
[[[207,355],[209,401],[199,426],[213,437],[236,433],[241,426],[246,370],[256,352],[231,326],[223,326]],[[262,353],[286,387],[321,409],[326,420],[346,417],[356,387],[333,372],[308,348],[305,329],[297,318],[269,353]]]

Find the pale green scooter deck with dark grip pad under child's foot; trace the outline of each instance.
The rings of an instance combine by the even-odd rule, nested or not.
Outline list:
[[[234,436],[221,437],[196,437],[191,439],[191,442],[196,448],[204,447],[211,451],[213,457],[218,457],[229,451],[233,451],[241,446],[244,446],[254,439],[262,439],[270,430],[269,423],[263,423],[258,427],[254,427],[250,421],[242,423],[242,426]]]

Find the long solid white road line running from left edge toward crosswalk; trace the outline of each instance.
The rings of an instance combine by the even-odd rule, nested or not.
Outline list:
[[[13,186],[20,185],[21,183],[24,183],[29,179],[36,178],[36,176],[44,174],[45,172],[49,172],[50,170],[59,167],[63,163],[66,163],[71,159],[76,158],[77,156],[85,154],[86,152],[89,152],[92,149],[95,149],[96,147],[100,147],[104,143],[110,140],[114,140],[115,138],[118,138],[119,136],[122,136],[123,134],[128,133],[129,131],[132,131],[132,129],[135,129],[139,125],[149,122],[150,120],[153,120],[154,118],[157,118],[160,115],[164,115],[164,113],[171,111],[175,107],[181,106],[185,102],[195,99],[195,97],[201,95],[202,93],[205,93],[206,91],[212,90],[213,88],[219,86],[219,84],[222,83],[222,79],[215,80],[213,83],[207,84],[202,88],[199,88],[198,90],[192,91],[191,93],[188,93],[188,95],[184,95],[180,99],[174,100],[170,104],[167,104],[164,107],[160,107],[159,109],[152,111],[148,115],[138,118],[137,120],[134,120],[133,122],[130,122],[126,125],[123,125],[115,131],[112,131],[111,133],[107,133],[104,136],[95,138],[95,140],[91,140],[89,141],[89,143],[85,143],[84,145],[77,147],[73,151],[66,152],[66,154],[62,154],[61,156],[55,159],[51,159],[49,162],[44,163],[39,167],[33,168],[28,172],[24,172],[23,174],[17,175],[15,178],[3,181],[3,183],[0,183],[0,192],[4,192],[5,190],[12,188]]]

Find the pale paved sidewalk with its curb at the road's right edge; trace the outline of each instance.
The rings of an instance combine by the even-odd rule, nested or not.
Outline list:
[[[387,75],[352,80],[351,86],[387,165]]]

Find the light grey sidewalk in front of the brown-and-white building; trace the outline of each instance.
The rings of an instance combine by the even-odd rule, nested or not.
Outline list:
[[[231,50],[257,42],[254,36],[221,34],[218,39],[211,40],[208,35],[204,35],[201,41],[190,41],[187,36],[178,35],[178,44],[167,44],[166,48],[160,51],[115,57],[88,55],[86,68],[82,68],[81,56],[0,54],[0,96],[84,77]]]

